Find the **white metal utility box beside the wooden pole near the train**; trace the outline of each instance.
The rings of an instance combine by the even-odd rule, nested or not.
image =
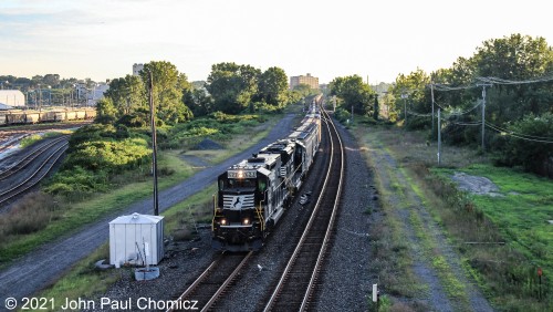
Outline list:
[[[122,216],[109,222],[109,263],[157,264],[164,258],[164,217]]]

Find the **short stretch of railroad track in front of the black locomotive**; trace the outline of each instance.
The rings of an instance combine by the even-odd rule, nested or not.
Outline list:
[[[208,311],[217,299],[223,294],[240,270],[250,259],[252,251],[248,253],[221,253],[188,289],[175,300],[176,306],[190,306]],[[168,309],[167,311],[180,311]]]

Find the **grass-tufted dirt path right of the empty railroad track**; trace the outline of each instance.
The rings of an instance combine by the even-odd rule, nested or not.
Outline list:
[[[493,311],[479,289],[467,278],[460,256],[451,248],[442,229],[430,215],[418,186],[386,146],[374,137],[364,137],[362,144],[380,178],[383,200],[389,207],[388,217],[398,223],[416,280],[413,298],[401,294],[394,294],[394,298],[422,310]]]

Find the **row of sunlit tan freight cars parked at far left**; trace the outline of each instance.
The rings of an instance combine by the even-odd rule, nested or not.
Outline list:
[[[92,119],[95,117],[96,110],[93,107],[49,111],[0,111],[0,126]]]

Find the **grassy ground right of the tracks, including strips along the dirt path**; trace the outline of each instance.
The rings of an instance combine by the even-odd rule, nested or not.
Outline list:
[[[463,274],[477,281],[495,308],[511,311],[547,311],[552,309],[553,181],[517,169],[497,168],[471,148],[444,146],[442,165],[437,166],[436,145],[422,133],[409,133],[393,126],[357,125],[354,128],[367,155],[384,148],[397,162],[405,180],[394,180],[392,167],[373,163],[377,185],[383,194],[385,221],[372,233],[376,238],[376,270],[392,295],[413,298],[425,292],[413,272],[413,253],[405,245],[406,228],[413,228],[426,260],[438,272],[441,284],[453,301],[470,299],[462,279],[440,254],[440,241],[415,210],[408,226],[399,216],[401,209],[417,206],[413,190],[428,208],[434,221],[445,230],[447,241],[460,257]],[[382,150],[382,149],[380,149]],[[374,159],[373,159],[374,162]],[[477,196],[459,191],[451,175],[462,171],[492,180],[502,196]],[[399,194],[399,197],[397,196]],[[389,201],[389,198],[400,198]],[[410,247],[413,248],[413,247]],[[389,267],[380,262],[392,263]],[[380,264],[378,264],[380,263]],[[379,267],[378,267],[379,266]],[[542,268],[540,295],[538,268]],[[400,279],[397,277],[401,277]]]

